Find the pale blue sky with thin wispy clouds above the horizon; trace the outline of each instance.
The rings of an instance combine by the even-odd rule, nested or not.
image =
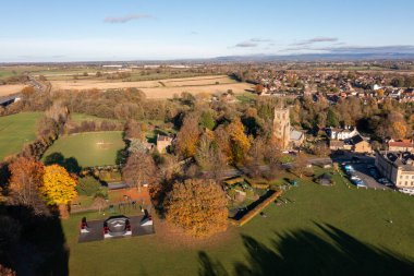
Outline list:
[[[414,52],[413,0],[13,0],[0,62]]]

